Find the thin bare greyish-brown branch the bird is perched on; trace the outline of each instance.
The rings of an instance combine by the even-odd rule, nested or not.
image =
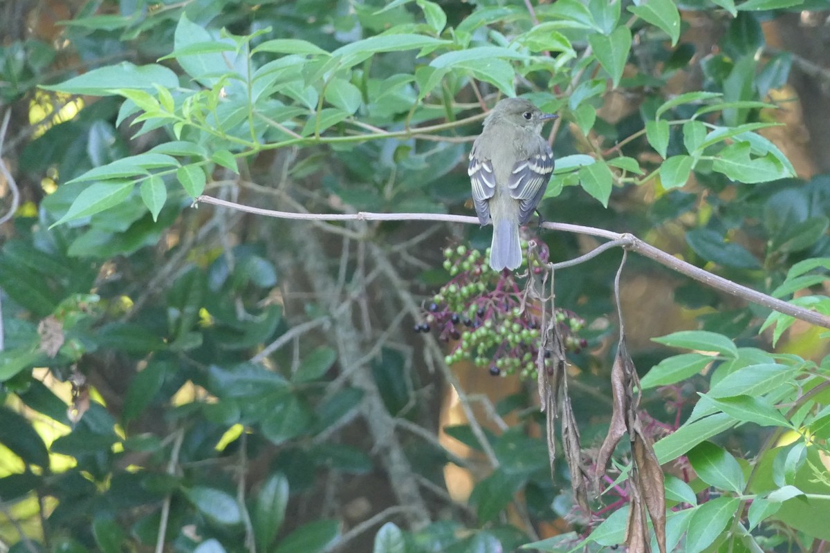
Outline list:
[[[230,207],[239,211],[246,211],[256,215],[263,215],[268,217],[277,217],[281,219],[300,219],[306,221],[444,221],[451,223],[464,223],[467,225],[478,224],[477,217],[463,216],[463,215],[445,215],[440,213],[369,213],[366,211],[359,211],[358,213],[334,213],[334,214],[312,214],[312,213],[291,213],[289,211],[273,211],[267,209],[260,209],[258,207],[242,206],[241,204],[233,203],[232,201],[218,200],[211,196],[199,196],[197,201],[214,204],[217,206]],[[544,222],[542,227],[549,230],[561,230],[563,232],[572,232],[575,234],[592,235],[608,240],[619,240],[618,245],[626,250],[637,252],[650,260],[657,261],[669,269],[680,274],[685,274],[691,279],[695,279],[710,288],[718,289],[722,292],[729,293],[737,298],[745,299],[751,303],[757,303],[765,308],[772,309],[784,315],[789,315],[793,318],[798,318],[806,323],[814,324],[818,327],[830,328],[830,317],[823,313],[810,311],[808,309],[799,308],[797,305],[787,303],[778,298],[773,298],[765,293],[758,292],[751,288],[747,288],[742,284],[737,284],[729,279],[710,273],[705,269],[696,267],[691,263],[686,263],[677,259],[675,256],[659,250],[653,245],[647,244],[631,234],[621,234],[612,232],[610,230],[598,229],[593,226],[571,225],[569,223],[552,223]]]

